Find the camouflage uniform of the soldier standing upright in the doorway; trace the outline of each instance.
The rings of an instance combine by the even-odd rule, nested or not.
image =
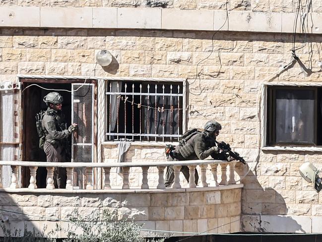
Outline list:
[[[64,122],[64,115],[61,111],[55,111],[48,107],[41,122],[42,129],[46,134],[44,151],[48,162],[69,161],[66,145],[69,132]],[[66,168],[55,167],[54,185],[56,188],[66,186]]]

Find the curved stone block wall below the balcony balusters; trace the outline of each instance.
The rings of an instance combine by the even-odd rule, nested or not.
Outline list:
[[[41,229],[39,226],[46,224],[47,231],[51,231],[56,224],[67,226],[66,221],[72,216],[86,221],[91,216],[102,216],[103,210],[116,210],[120,219],[134,219],[149,230],[233,233],[240,231],[240,198],[241,188],[46,195],[1,192],[0,206],[6,210],[1,212],[1,216],[8,219],[4,225],[11,229],[23,229],[26,225],[37,231]],[[180,235],[185,234],[176,234]]]

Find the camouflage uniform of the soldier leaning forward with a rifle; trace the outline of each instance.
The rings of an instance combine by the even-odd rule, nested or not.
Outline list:
[[[204,160],[211,156],[213,159],[220,159],[220,154],[216,147],[215,139],[210,137],[207,132],[200,132],[194,135],[191,139],[187,141],[184,145],[176,146],[175,152],[171,153],[168,161],[189,161],[189,160]],[[183,165],[181,171],[184,173],[185,178],[189,181],[189,168]],[[195,184],[198,183],[198,173],[195,170],[194,179]],[[172,166],[167,167],[165,185],[170,187],[174,180],[174,170]]]

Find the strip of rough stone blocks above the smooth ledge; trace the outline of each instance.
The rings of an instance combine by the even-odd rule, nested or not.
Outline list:
[[[135,7],[209,10],[251,10],[258,12],[295,12],[297,1],[293,0],[6,0],[0,6],[41,7]],[[304,8],[303,4],[303,8]],[[304,9],[305,10],[305,9]],[[312,11],[322,12],[320,0],[312,1]]]

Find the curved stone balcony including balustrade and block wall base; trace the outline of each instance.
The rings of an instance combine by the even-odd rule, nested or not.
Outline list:
[[[10,165],[12,169],[10,187],[0,188],[0,206],[5,208],[2,217],[8,218],[12,226],[23,228],[24,225],[31,226],[31,223],[41,230],[43,224],[47,225],[47,229],[57,223],[67,226],[68,216],[75,211],[86,220],[89,215],[99,216],[103,209],[117,209],[121,217],[144,223],[143,231],[153,232],[153,236],[157,236],[159,231],[175,232],[173,236],[205,231],[239,232],[243,185],[236,184],[235,164],[216,160],[124,163],[1,161],[0,170],[2,165]],[[171,188],[164,186],[164,170],[168,165],[173,165],[175,171]],[[182,165],[189,167],[188,184],[180,179]],[[28,188],[19,187],[21,166],[30,169]],[[47,168],[46,188],[37,188],[38,167]],[[65,189],[55,189],[54,167],[66,168]],[[122,167],[122,185],[110,179],[117,167]],[[196,167],[199,169],[198,186],[194,182]],[[74,168],[83,168],[85,171],[84,189],[75,189],[73,185]],[[96,168],[104,171],[100,189],[93,184],[93,169]],[[129,182],[133,169],[141,170],[139,187]],[[153,176],[149,174],[153,170],[157,170],[154,173],[157,175],[157,184],[148,179]]]

